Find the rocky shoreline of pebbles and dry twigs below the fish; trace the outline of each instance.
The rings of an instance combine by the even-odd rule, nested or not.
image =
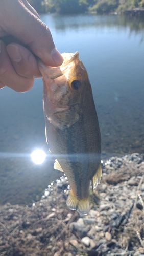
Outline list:
[[[66,176],[32,205],[0,206],[0,255],[144,256],[144,156],[112,157],[87,216],[66,207]]]

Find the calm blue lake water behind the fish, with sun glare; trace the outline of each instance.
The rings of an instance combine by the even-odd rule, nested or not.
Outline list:
[[[144,151],[144,22],[125,16],[41,15],[55,45],[79,51],[92,86],[102,135],[102,158]],[[32,162],[35,148],[48,153],[42,80],[27,93],[0,90],[0,204],[28,204],[61,176],[47,156]]]

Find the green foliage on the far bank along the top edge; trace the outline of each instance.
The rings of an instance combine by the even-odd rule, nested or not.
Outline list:
[[[124,12],[126,9],[144,8],[144,0],[28,0],[38,13],[60,14]]]

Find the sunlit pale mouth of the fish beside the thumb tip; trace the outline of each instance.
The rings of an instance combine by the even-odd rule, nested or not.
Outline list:
[[[71,62],[73,62],[75,59],[79,59],[79,53],[62,53],[61,54],[63,57],[63,63],[59,67],[50,67],[50,66],[45,66],[43,62],[38,59],[38,64],[39,67],[44,68],[45,73],[49,76],[51,79],[55,79],[59,76],[62,76],[67,70],[71,67]],[[40,68],[41,69],[41,68]]]

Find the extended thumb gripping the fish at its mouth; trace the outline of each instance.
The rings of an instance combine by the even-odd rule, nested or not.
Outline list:
[[[45,65],[60,66],[63,58],[55,48],[49,28],[20,0],[1,0],[3,30],[28,45]]]

